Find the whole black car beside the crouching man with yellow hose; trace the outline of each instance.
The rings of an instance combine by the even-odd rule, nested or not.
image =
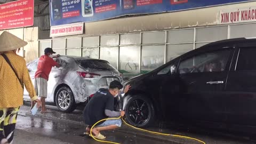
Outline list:
[[[211,124],[255,132],[256,39],[227,39],[187,52],[124,83],[127,121]]]

